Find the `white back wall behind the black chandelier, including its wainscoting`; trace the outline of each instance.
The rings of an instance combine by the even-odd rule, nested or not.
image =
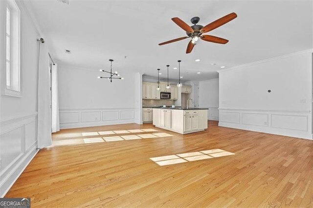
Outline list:
[[[121,69],[110,83],[98,69],[58,66],[60,128],[138,122],[139,73]]]

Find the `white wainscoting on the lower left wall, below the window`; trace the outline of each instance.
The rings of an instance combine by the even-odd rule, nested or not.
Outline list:
[[[38,152],[37,113],[1,118],[0,126],[0,197],[3,197]]]

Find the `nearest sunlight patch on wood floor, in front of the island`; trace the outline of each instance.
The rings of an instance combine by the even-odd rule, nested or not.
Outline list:
[[[202,150],[198,152],[187,152],[181,153],[176,155],[166,155],[160,157],[152,157],[150,160],[155,162],[159,166],[167,166],[179,163],[186,163],[198,160],[206,160],[212,159],[217,157],[224,157],[228,155],[234,155],[233,152],[227,152],[223,149],[209,149],[209,150]]]

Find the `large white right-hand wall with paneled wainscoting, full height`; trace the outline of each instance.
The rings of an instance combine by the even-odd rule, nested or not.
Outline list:
[[[312,50],[219,73],[220,126],[312,139]]]

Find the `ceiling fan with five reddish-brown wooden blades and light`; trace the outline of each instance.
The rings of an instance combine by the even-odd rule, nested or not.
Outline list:
[[[186,53],[190,53],[192,49],[194,48],[194,46],[196,45],[199,38],[203,41],[225,44],[228,42],[228,40],[224,38],[212,36],[212,35],[203,35],[203,33],[207,33],[211,30],[214,30],[222,26],[223,24],[226,24],[227,22],[232,21],[236,17],[237,17],[237,14],[233,12],[216,21],[213,21],[207,24],[204,27],[200,24],[197,24],[200,20],[199,17],[194,17],[191,19],[191,22],[194,24],[192,26],[189,26],[187,23],[185,23],[184,21],[180,20],[177,17],[172,18],[172,21],[174,21],[179,27],[181,27],[184,31],[186,31],[187,36],[177,38],[177,39],[167,41],[167,42],[162,42],[162,43],[159,43],[159,45],[165,45],[171,42],[177,42],[177,41],[184,40],[186,38],[191,38],[191,41],[188,43],[187,50],[186,50]]]

